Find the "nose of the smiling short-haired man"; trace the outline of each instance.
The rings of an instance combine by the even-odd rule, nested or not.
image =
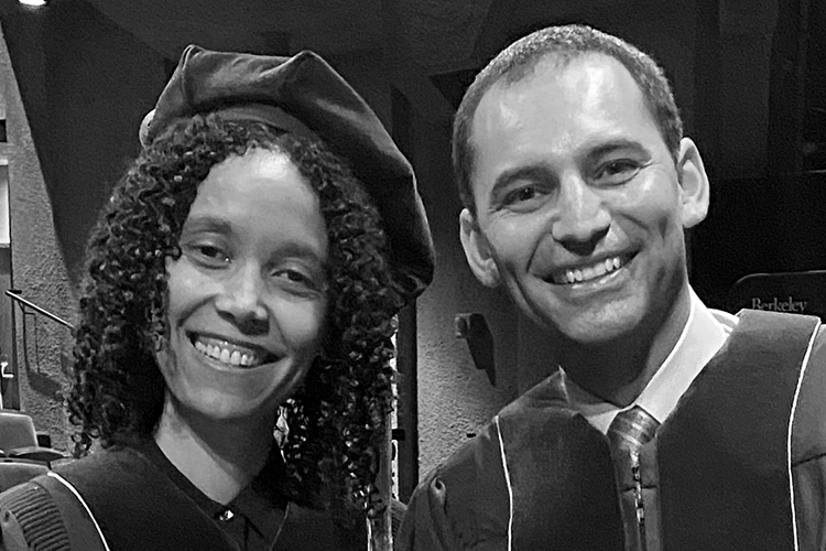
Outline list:
[[[593,249],[611,225],[610,213],[599,191],[588,185],[578,172],[563,176],[555,210],[551,234],[574,251]]]

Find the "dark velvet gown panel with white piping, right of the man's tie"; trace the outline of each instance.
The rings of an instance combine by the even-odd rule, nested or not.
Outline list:
[[[655,439],[664,547],[798,549],[790,439],[820,322],[743,311]]]

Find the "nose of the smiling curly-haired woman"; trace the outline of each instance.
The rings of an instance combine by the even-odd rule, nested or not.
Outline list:
[[[261,268],[254,262],[237,264],[224,281],[216,309],[246,332],[267,331],[269,313],[264,292]]]

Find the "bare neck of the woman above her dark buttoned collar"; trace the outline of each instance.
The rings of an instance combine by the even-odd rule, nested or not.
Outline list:
[[[231,501],[263,468],[274,420],[215,420],[166,397],[155,431],[163,454],[207,497]]]

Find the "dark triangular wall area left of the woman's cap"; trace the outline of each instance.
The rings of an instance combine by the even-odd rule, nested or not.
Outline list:
[[[17,10],[3,31],[72,282],[137,128],[165,84],[164,57],[86,2]]]

